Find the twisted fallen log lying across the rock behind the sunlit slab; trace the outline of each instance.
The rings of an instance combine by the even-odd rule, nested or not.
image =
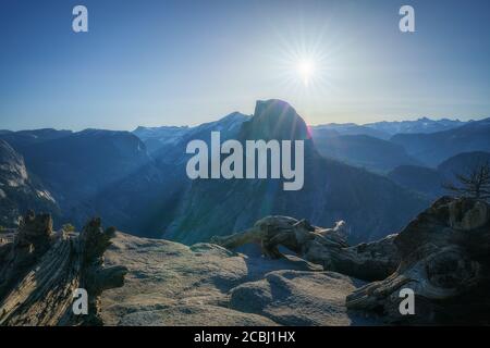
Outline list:
[[[350,247],[345,241],[345,223],[333,228],[313,226],[306,220],[287,216],[267,216],[247,231],[230,236],[215,236],[211,243],[228,249],[256,243],[266,257],[284,257],[279,247],[285,247],[324,270],[351,275],[364,281],[383,279],[399,265],[400,258],[393,244],[394,236]]]

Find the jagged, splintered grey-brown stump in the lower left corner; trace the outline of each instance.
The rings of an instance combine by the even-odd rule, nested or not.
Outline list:
[[[114,229],[91,220],[79,235],[53,233],[48,214],[27,213],[13,241],[0,244],[0,325],[100,325],[100,295],[122,286],[124,266],[103,268]],[[75,290],[88,313],[72,310]]]

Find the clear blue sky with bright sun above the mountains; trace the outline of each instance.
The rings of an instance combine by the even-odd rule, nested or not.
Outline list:
[[[309,124],[480,119],[489,25],[488,0],[1,0],[0,128],[195,125],[269,98]]]

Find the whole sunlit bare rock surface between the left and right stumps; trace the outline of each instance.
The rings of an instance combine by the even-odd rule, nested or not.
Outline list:
[[[359,282],[294,256],[270,260],[118,233],[106,262],[128,268],[124,287],[102,294],[109,325],[366,323],[345,308]]]

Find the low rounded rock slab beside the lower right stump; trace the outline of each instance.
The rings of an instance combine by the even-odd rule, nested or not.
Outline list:
[[[281,325],[372,325],[345,308],[345,297],[360,284],[334,272],[274,271],[233,288],[230,307]]]

